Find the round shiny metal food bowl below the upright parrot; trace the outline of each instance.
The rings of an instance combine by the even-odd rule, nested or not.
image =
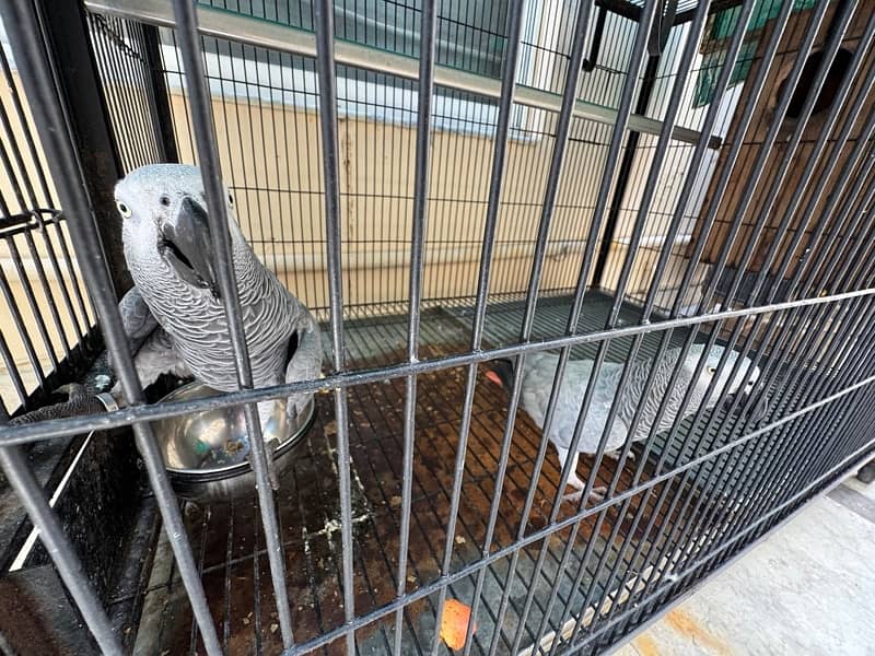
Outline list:
[[[162,401],[183,401],[218,396],[202,383],[189,383]],[[313,399],[294,420],[285,413],[285,399],[269,401],[273,411],[262,433],[268,453],[272,441],[277,477],[294,459],[292,447],[313,423]],[[249,442],[243,408],[213,408],[194,414],[170,417],[155,422],[155,437],[174,491],[182,499],[214,503],[244,499],[255,493],[255,472],[248,460]]]

